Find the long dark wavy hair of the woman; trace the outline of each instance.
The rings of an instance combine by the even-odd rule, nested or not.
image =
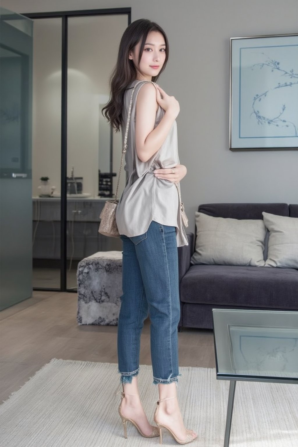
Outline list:
[[[159,75],[164,71],[169,55],[168,38],[164,30],[155,22],[148,19],[139,19],[132,22],[124,31],[118,50],[117,63],[109,78],[110,98],[109,102],[102,108],[101,113],[108,119],[110,125],[117,131],[122,126],[122,105],[124,92],[127,86],[136,79],[137,71],[134,67],[134,61],[129,59],[130,51],[141,41],[139,61],[142,58],[143,49],[150,31],[159,31],[164,36],[166,44],[166,57],[164,65],[157,76],[152,76],[152,81],[156,81]],[[105,110],[105,114],[103,111]]]

